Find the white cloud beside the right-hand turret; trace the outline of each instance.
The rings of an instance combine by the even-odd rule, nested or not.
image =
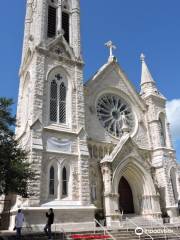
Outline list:
[[[172,99],[171,101],[168,101],[166,110],[173,140],[180,140],[180,99]]]

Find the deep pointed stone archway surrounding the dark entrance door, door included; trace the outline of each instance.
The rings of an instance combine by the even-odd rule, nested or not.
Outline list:
[[[139,160],[132,157],[121,160],[113,173],[112,188],[113,192],[119,195],[116,209],[121,203],[124,204],[124,213],[140,215],[160,213],[153,180]],[[123,195],[124,199],[121,198]]]

